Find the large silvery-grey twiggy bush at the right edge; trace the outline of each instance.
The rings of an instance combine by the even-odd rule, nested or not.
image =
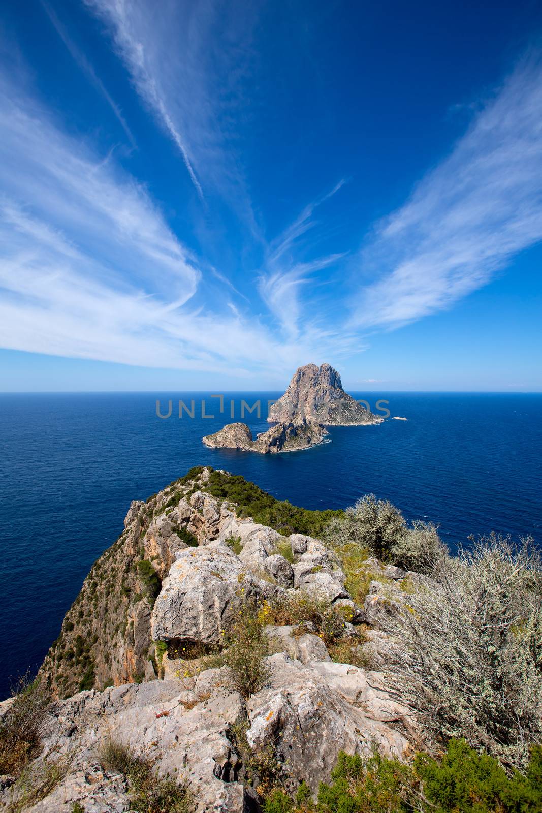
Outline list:
[[[465,737],[507,767],[542,743],[542,566],[531,539],[481,537],[386,615],[388,671],[437,746]]]

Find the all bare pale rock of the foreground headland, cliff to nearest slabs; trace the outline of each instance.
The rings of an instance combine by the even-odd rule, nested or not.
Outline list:
[[[401,606],[409,575],[372,560],[375,579],[357,606],[332,550],[238,517],[232,502],[206,493],[216,474],[193,470],[146,503],[132,502],[124,533],[68,611],[41,667],[66,699],[50,710],[38,758],[54,755],[67,767],[33,813],[72,811],[76,802],[84,811],[130,810],[122,777],[98,765],[97,749],[111,733],[161,775],[188,782],[197,811],[224,813],[259,809],[258,780],[248,780],[235,734],[240,720],[246,747],[272,747],[292,791],[304,781],[316,793],[340,750],[368,755],[376,746],[403,759],[417,744],[416,721],[379,672],[389,646],[379,610]],[[231,688],[228,667],[206,668],[200,659],[197,669],[180,657],[190,646],[220,649],[224,629],[250,606],[298,595],[340,612],[345,641],[370,651],[374,666],[334,662],[310,623],[267,628],[275,651],[265,659],[269,678],[248,700]],[[4,789],[0,804],[14,793]]]

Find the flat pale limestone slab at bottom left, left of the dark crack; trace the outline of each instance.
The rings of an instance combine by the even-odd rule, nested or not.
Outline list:
[[[69,757],[69,769],[33,813],[72,813],[76,801],[96,813],[133,809],[123,778],[98,767],[97,751],[108,736],[150,759],[161,776],[188,782],[197,813],[245,813],[245,789],[228,775],[228,728],[241,715],[242,702],[217,685],[217,676],[213,670],[197,679],[154,680],[63,701],[44,753]]]

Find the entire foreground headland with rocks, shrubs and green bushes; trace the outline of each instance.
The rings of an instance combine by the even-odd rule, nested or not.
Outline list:
[[[0,702],[0,810],[536,813],[540,596],[528,546],[452,559],[373,495],[307,511],[195,467],[132,502]]]

